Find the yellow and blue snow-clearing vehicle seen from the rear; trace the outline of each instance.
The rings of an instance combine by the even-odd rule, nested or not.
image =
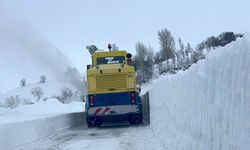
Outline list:
[[[135,82],[135,66],[125,50],[93,50],[87,66],[86,121],[88,127],[127,121],[143,123],[143,106]]]

